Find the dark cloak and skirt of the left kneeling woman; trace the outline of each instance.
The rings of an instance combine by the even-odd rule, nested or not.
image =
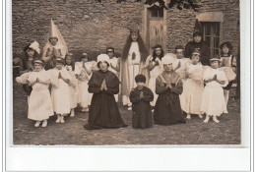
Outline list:
[[[103,80],[107,90],[100,90]],[[89,81],[89,92],[94,93],[89,108],[89,120],[85,129],[121,128],[127,125],[123,122],[114,94],[119,92],[119,80],[110,71],[95,71]]]

